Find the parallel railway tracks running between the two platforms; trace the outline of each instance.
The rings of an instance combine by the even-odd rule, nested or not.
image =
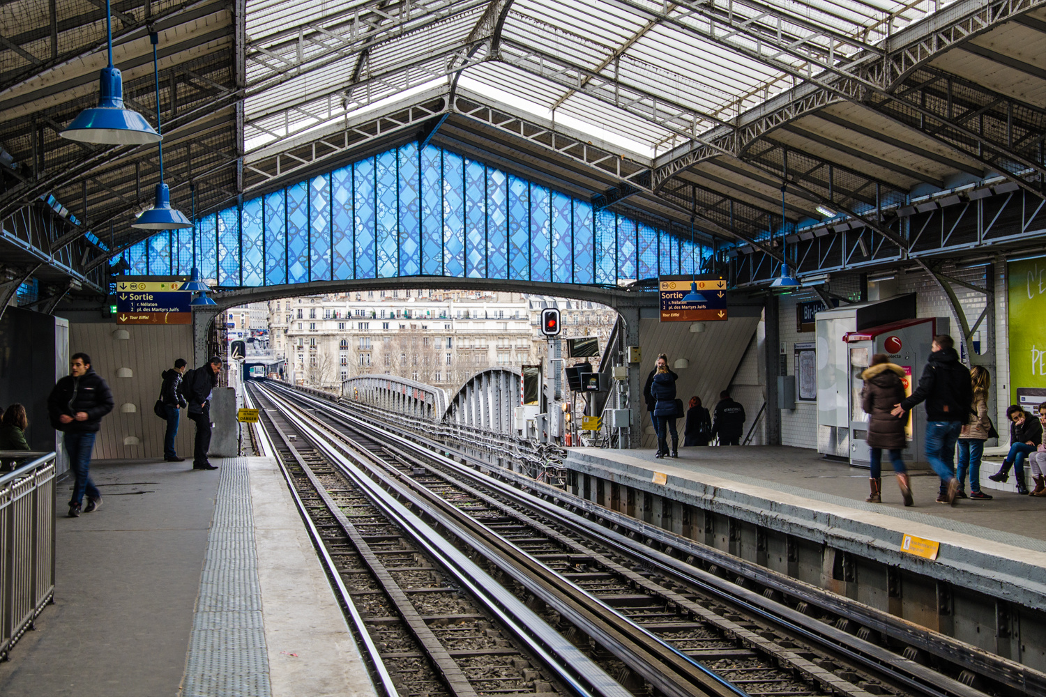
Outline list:
[[[877,647],[868,641],[874,637],[867,632],[864,637],[855,637],[831,625],[815,632],[805,626],[809,622],[789,621],[790,613],[798,615],[792,620],[811,621],[802,613],[804,608],[781,607],[778,612],[767,612],[763,607],[768,602],[774,603],[772,591],[759,596],[744,587],[725,590],[724,585],[734,584],[724,583],[687,560],[676,559],[672,550],[652,551],[651,540],[637,539],[634,530],[618,525],[608,530],[607,520],[593,520],[590,511],[570,510],[569,506],[564,509],[563,502],[555,501],[556,496],[549,496],[547,491],[544,496],[521,491],[518,483],[513,486],[477,472],[438,451],[382,432],[334,405],[292,390],[252,387],[252,392],[267,404],[267,427],[275,434],[273,442],[277,443],[279,457],[285,463],[292,462],[289,471],[300,471],[292,473],[290,479],[299,491],[308,480],[304,489],[312,493],[303,501],[306,510],[322,516],[321,531],[340,536],[346,526],[339,516],[353,518],[357,525],[366,526],[358,528],[366,531],[363,541],[371,537],[372,543],[385,542],[392,558],[396,554],[403,557],[402,550],[407,549],[404,530],[396,526],[415,524],[383,517],[373,504],[373,491],[367,493],[359,488],[367,481],[368,486],[399,501],[418,520],[438,530],[445,543],[472,557],[476,571],[499,582],[517,607],[526,608],[544,621],[547,628],[554,628],[556,635],[575,647],[576,653],[590,664],[581,670],[563,664],[556,667],[541,663],[554,650],[538,656],[533,646],[526,642],[510,649],[502,646],[499,648],[504,650],[503,654],[482,654],[482,658],[470,661],[470,668],[482,673],[480,667],[504,665],[495,656],[510,655],[508,665],[522,666],[522,673],[508,677],[511,671],[505,671],[503,689],[479,683],[479,689],[474,688],[477,693],[570,694],[579,687],[577,676],[589,674],[598,676],[596,684],[581,687],[593,693],[615,689],[623,694],[674,697],[985,694],[928,666]],[[299,438],[302,440],[296,443]],[[282,448],[278,445],[280,441]],[[332,464],[338,461],[342,464]],[[357,488],[347,487],[346,480],[350,479],[356,480]],[[331,549],[327,539],[323,544]],[[345,547],[339,540],[338,549]],[[354,547],[359,549],[359,542],[354,542]],[[440,577],[437,570],[440,562],[417,562],[416,555],[416,550],[407,553],[414,565],[404,566],[403,573],[414,574],[408,578],[430,585],[413,596],[440,590],[461,594],[460,580],[454,585],[445,576]],[[339,574],[346,570],[359,574],[363,568],[351,565],[360,564],[358,561],[351,564],[345,559],[341,561]],[[371,570],[368,578],[380,580],[380,577]],[[374,581],[370,583],[366,591],[350,594],[354,603],[358,604],[357,596],[360,603],[378,596],[390,597],[388,589],[374,586]],[[409,609],[364,607],[367,619],[359,623],[361,637],[367,633],[377,644],[389,646],[382,641],[383,631],[396,624],[394,618],[409,617]],[[520,635],[519,631],[496,626],[490,609],[472,608],[452,615],[455,623],[459,619],[467,623],[459,632],[479,628],[486,632],[484,636],[497,634],[496,641]],[[451,621],[447,618],[432,613],[419,617],[433,630],[432,634],[435,634],[433,622],[440,627],[445,620]],[[529,631],[532,633],[533,629]],[[826,641],[825,633],[835,641]],[[402,637],[404,632],[395,630],[393,634]],[[425,632],[418,635],[424,636]],[[418,635],[414,636],[415,642],[419,641]],[[847,641],[840,641],[842,637]],[[426,641],[432,642],[433,637]],[[427,663],[422,660],[424,653],[417,646],[392,653],[386,651],[392,657],[397,653],[409,654],[417,661],[417,679],[400,681],[407,692],[414,693],[415,687],[426,680],[440,682],[446,692],[449,673],[438,668],[438,661],[432,657]],[[578,655],[566,658],[566,664]],[[427,673],[423,664],[430,666]],[[433,670],[431,666],[437,668]],[[593,667],[598,673],[592,672]]]

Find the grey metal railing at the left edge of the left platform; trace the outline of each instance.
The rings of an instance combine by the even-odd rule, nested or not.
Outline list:
[[[0,660],[54,595],[54,452],[0,451]]]

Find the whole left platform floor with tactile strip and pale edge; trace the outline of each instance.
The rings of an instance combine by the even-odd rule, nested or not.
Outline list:
[[[0,664],[4,697],[371,695],[353,633],[270,458],[98,461],[64,517],[54,604]]]

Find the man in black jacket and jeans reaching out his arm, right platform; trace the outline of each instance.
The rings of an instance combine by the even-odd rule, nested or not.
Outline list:
[[[953,347],[954,342],[948,334],[933,338],[930,358],[923,369],[918,387],[890,411],[903,419],[905,412],[926,402],[926,459],[940,478],[937,503],[950,506],[955,506],[959,491],[953,464],[955,444],[962,424],[970,418],[974,398],[970,370],[959,363],[959,354]]]

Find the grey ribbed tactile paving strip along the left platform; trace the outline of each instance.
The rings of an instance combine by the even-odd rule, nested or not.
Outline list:
[[[219,472],[181,697],[270,697],[247,461]]]

